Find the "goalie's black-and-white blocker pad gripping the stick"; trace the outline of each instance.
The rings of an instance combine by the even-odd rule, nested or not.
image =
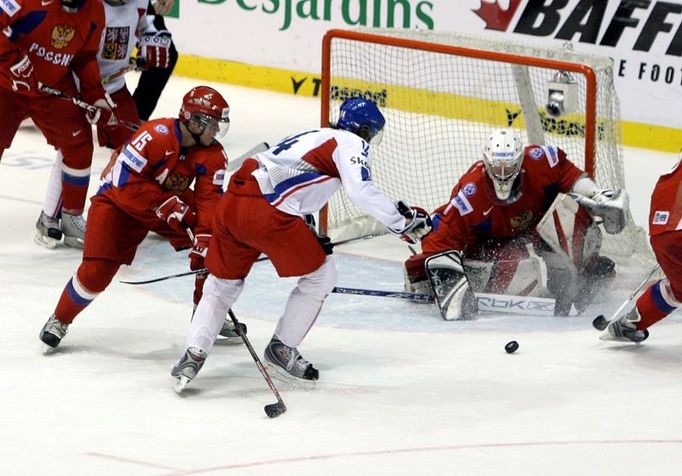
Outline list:
[[[443,319],[467,319],[476,314],[476,299],[459,251],[450,250],[429,256],[425,267]]]

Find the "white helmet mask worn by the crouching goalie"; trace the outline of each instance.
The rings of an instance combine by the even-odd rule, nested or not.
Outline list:
[[[497,198],[509,200],[523,162],[523,143],[519,135],[512,129],[494,130],[483,144],[483,162]]]

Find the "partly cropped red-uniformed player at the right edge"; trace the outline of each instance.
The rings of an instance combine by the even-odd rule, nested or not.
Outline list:
[[[649,327],[682,304],[682,154],[673,169],[661,175],[651,195],[649,235],[656,260],[665,274],[644,291],[633,309],[609,324],[604,340],[642,342]]]

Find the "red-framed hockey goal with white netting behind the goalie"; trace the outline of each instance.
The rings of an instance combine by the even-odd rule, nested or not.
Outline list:
[[[575,83],[577,97],[573,110],[552,117],[545,104],[558,75]],[[512,127],[527,143],[561,147],[601,187],[624,186],[609,58],[451,32],[330,30],[321,96],[322,125],[335,123],[348,97],[377,103],[386,128],[374,149],[374,181],[393,199],[427,210],[449,199],[459,177],[482,157],[494,127]],[[329,202],[326,226],[334,239],[383,228],[343,192]],[[644,231],[632,221],[613,241],[604,244],[611,254],[648,252]]]

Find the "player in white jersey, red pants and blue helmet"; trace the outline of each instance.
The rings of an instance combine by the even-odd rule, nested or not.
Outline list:
[[[300,276],[265,360],[286,376],[318,379],[319,372],[298,346],[334,288],[336,268],[328,241],[318,241],[305,216],[318,212],[343,187],[353,203],[406,241],[415,243],[431,229],[423,209],[394,204],[372,181],[370,144],[381,139],[384,124],[374,103],[348,99],[334,127],[291,135],[247,159],[231,177],[216,208],[204,295],[187,335],[187,349],[171,370],[177,392],[206,360],[260,253],[270,258],[279,276]]]

